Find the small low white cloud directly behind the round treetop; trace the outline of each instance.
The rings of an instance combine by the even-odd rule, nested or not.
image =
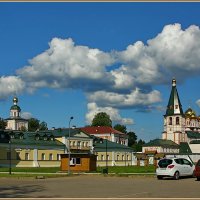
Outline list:
[[[91,124],[94,116],[99,112],[105,112],[110,116],[113,123],[120,123],[123,125],[134,124],[131,118],[122,118],[119,110],[112,107],[98,107],[96,103],[88,103],[88,113],[86,114],[86,123]]]

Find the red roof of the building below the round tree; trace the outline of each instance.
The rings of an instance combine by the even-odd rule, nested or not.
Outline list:
[[[88,127],[83,127],[80,128],[83,132],[88,133],[88,134],[107,134],[107,133],[112,133],[112,134],[125,134],[120,131],[117,131],[113,129],[112,127],[109,126],[88,126]]]

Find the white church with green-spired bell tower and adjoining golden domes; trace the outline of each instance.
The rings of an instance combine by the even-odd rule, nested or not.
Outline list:
[[[200,153],[200,117],[192,108],[183,112],[175,79],[172,80],[170,98],[164,115],[162,139],[172,140],[180,145],[187,143],[192,153]]]

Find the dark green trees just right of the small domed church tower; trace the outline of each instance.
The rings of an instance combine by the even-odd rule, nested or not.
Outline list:
[[[40,120],[36,119],[36,118],[30,118],[28,120],[28,130],[29,131],[44,131],[44,130],[48,130],[47,128],[47,123],[46,122],[40,122]]]

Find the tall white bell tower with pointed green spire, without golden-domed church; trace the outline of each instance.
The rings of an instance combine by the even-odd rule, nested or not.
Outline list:
[[[172,140],[177,144],[186,141],[185,117],[176,89],[176,80],[172,80],[172,89],[164,115],[164,131],[162,139]]]

